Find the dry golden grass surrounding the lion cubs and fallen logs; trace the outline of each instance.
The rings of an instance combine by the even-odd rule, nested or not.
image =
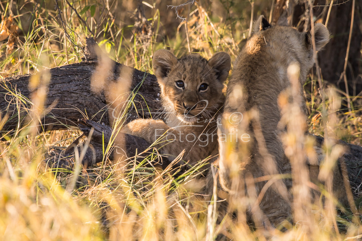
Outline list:
[[[149,20],[154,31],[148,45],[140,44],[138,36],[131,33],[130,20],[124,16],[119,18],[121,20],[117,18],[120,13],[135,9],[132,1],[73,1],[73,7],[87,26],[66,0],[57,2],[62,9],[61,18],[54,1],[1,1],[2,16],[12,15],[19,28],[15,46],[11,42],[0,45],[1,77],[36,73],[81,61],[83,53],[79,46],[84,46],[89,29],[113,59],[149,72],[152,72],[153,51],[164,46],[173,49],[177,56],[198,52],[210,57],[217,51],[226,51],[235,59],[238,46],[249,32],[250,10],[237,9],[250,7],[247,1],[239,7],[232,1],[220,1],[221,5],[214,6],[223,8],[219,16],[211,16],[208,10],[196,4],[189,11],[188,22],[182,23],[174,20],[172,10],[167,11],[159,1],[150,1],[148,4],[152,8],[144,6],[152,16]],[[261,2],[258,3],[260,8],[268,5]],[[240,12],[241,20],[231,17],[232,8]],[[167,28],[175,23],[177,31],[168,37],[165,35]],[[310,81],[315,83],[316,79]],[[335,93],[322,98],[315,85],[311,86],[312,89],[307,90],[310,131],[362,145],[361,107],[340,112]],[[36,95],[32,101],[39,107],[44,96]],[[43,109],[34,108],[31,113],[30,121],[35,126]],[[328,118],[321,118],[327,114]],[[290,128],[295,130],[298,126]],[[217,237],[220,227],[215,224],[216,203],[214,199],[210,203],[203,201],[200,194],[203,184],[195,181],[205,163],[178,177],[172,176],[171,167],[166,170],[149,168],[133,159],[129,160],[128,169],[106,162],[87,171],[80,170],[80,177],[76,171],[56,177],[42,162],[42,155],[50,145],[69,145],[79,136],[79,131],[38,133],[36,128],[30,128],[18,133],[0,141],[0,240],[183,241]],[[295,143],[287,144],[295,146]],[[337,147],[329,146],[327,150],[332,153],[337,151],[334,148]],[[292,150],[295,152],[291,155],[298,164],[297,161],[303,159],[298,159],[300,152],[305,150]],[[326,163],[335,162],[333,155],[330,156],[332,159],[327,159]],[[300,168],[304,168],[303,165]],[[324,176],[330,178],[328,166],[324,172]],[[296,196],[298,191],[308,190],[308,177],[303,175],[298,177]],[[325,190],[330,190],[328,185]],[[361,224],[351,218],[349,210],[337,212],[333,195],[325,190],[325,206],[298,199],[295,218],[300,221],[285,233],[273,232],[273,240],[360,240]],[[227,218],[224,222],[230,225],[228,236],[233,240],[265,240],[260,230],[253,231],[242,222],[233,224]]]

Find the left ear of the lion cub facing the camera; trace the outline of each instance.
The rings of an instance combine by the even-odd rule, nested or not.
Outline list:
[[[177,64],[176,56],[168,50],[157,50],[153,54],[152,65],[156,77],[163,79],[167,77],[172,67]]]

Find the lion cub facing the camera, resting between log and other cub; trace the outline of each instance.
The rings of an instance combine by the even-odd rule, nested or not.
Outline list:
[[[158,50],[152,64],[167,120],[134,120],[122,132],[153,143],[171,160],[185,150],[182,159],[190,165],[216,155],[216,114],[224,104],[230,56],[218,52],[210,60],[196,54],[177,59],[170,51]]]

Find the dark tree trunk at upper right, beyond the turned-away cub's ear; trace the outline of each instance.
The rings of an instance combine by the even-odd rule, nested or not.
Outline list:
[[[349,46],[348,65],[346,75],[348,80],[348,89],[350,95],[357,95],[362,91],[362,78],[358,76],[361,72],[361,43],[362,31],[361,1],[356,1],[354,11],[354,22],[352,29],[352,38]],[[327,14],[325,14],[327,18]],[[331,14],[328,20],[328,30],[331,32],[331,40],[323,51],[320,51],[319,66],[321,68],[323,79],[333,83],[337,88],[346,91],[345,83],[341,79],[341,73],[344,70],[345,57],[348,47],[348,38],[351,25],[352,0],[344,4],[332,6]],[[325,23],[325,18],[323,23]]]

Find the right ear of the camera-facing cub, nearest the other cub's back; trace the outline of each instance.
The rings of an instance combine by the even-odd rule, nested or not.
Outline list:
[[[211,59],[209,59],[209,66],[215,70],[219,81],[224,82],[229,76],[231,68],[230,56],[225,52],[215,53]]]

